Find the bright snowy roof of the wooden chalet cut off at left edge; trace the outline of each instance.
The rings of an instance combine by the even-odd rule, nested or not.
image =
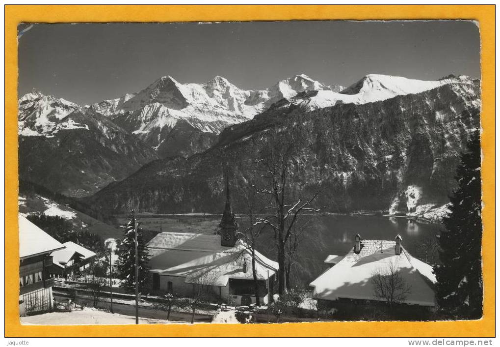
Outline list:
[[[19,214],[19,258],[50,253],[64,245]]]

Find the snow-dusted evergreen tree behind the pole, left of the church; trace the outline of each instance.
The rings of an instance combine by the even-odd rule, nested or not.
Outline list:
[[[117,251],[118,253],[118,271],[120,278],[124,281],[122,286],[133,290],[135,288],[135,241],[133,226],[136,221],[135,212],[132,210],[128,217],[128,223],[123,225],[124,238]],[[137,222],[137,253],[139,268],[139,288],[144,287],[148,280],[149,261],[148,249],[142,228],[138,227]]]

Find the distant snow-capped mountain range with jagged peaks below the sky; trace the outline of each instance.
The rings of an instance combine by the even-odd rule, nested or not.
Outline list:
[[[18,100],[19,175],[57,192],[83,196],[158,157],[188,157],[264,129],[290,110],[417,98],[444,86],[460,95],[467,91],[459,107],[464,103],[478,109],[480,99],[467,97],[477,94],[477,84],[466,76],[420,81],[367,75],[344,89],[302,74],[248,91],[220,76],[201,84],[181,84],[165,76],[137,93],[88,107],[33,91]],[[448,115],[438,111],[435,117]]]

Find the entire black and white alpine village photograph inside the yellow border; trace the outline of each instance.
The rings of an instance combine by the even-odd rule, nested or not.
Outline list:
[[[17,44],[21,324],[481,319],[476,22]]]

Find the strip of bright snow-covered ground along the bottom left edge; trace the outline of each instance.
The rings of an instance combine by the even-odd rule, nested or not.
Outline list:
[[[50,312],[20,317],[24,325],[111,325],[135,324],[135,317],[85,307],[71,312]],[[168,324],[172,321],[139,317],[139,324]],[[185,323],[185,322],[175,322]]]

